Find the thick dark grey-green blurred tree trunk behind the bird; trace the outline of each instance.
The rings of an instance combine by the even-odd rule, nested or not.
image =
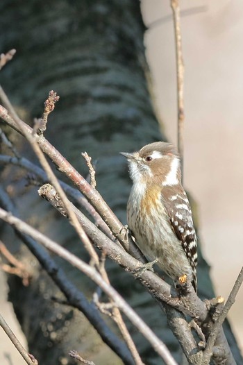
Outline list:
[[[144,144],[165,140],[151,106],[145,75],[144,24],[139,1],[11,1],[0,5],[1,51],[17,54],[1,71],[2,86],[26,120],[42,114],[49,90],[60,95],[49,117],[46,136],[67,160],[86,176],[81,152],[97,160],[97,189],[126,223],[126,201],[131,182],[119,151],[133,151]],[[19,139],[19,144],[22,139]],[[23,153],[28,153],[26,142]],[[9,169],[9,168],[8,168]],[[69,251],[88,260],[87,254],[64,218],[40,201],[36,188],[8,171],[8,189],[20,216]],[[33,273],[29,287],[9,278],[10,300],[39,364],[72,364],[68,350],[75,348],[97,364],[121,364],[76,309],[53,301],[63,298],[44,271],[9,232],[12,250]],[[10,238],[11,237],[11,238]],[[7,238],[5,239],[7,241]],[[88,298],[96,287],[66,262],[56,259],[74,284]],[[180,362],[181,352],[167,320],[144,288],[112,262],[107,262],[112,284],[138,314],[165,341]],[[88,288],[88,289],[87,289]],[[208,265],[199,260],[199,294],[212,297]],[[114,327],[114,326],[113,326]],[[146,364],[161,364],[149,343],[128,323]],[[114,329],[114,328],[113,328]],[[241,357],[231,330],[231,348]],[[67,359],[67,360],[66,360]]]

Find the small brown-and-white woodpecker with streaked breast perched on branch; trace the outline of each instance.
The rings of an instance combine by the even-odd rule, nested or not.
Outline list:
[[[127,223],[137,246],[149,262],[156,262],[169,275],[176,288],[191,282],[196,291],[196,232],[176,148],[153,142],[121,155],[128,160],[133,181]]]

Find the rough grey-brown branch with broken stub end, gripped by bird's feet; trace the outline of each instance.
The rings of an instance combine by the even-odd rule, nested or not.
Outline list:
[[[51,203],[51,205],[53,205],[60,214],[66,216],[60,197],[51,185],[46,184],[43,185],[43,187],[40,187],[39,194],[43,198],[47,199],[47,201],[49,201],[49,203]],[[98,228],[94,226],[94,224],[90,222],[74,205],[72,205],[72,209],[93,244],[106,253],[111,260],[117,262],[117,264],[136,277],[136,269],[142,266],[142,263],[126,253],[126,251],[124,251],[121,246],[115,244],[114,241],[110,241],[110,239],[108,239],[103,232],[99,231]],[[173,289],[171,289],[171,287],[155,273],[151,271],[144,271],[139,280],[142,285],[149,290],[151,295],[158,298],[158,300],[162,300],[163,302],[175,307],[181,312],[189,314],[194,318],[200,318],[201,321],[206,319],[208,313],[206,305],[198,298],[198,296],[196,296],[193,288],[188,289],[188,297],[181,297],[181,300],[178,300],[177,297],[174,298],[171,296],[171,291],[173,292]],[[176,292],[174,292],[174,294],[176,294]]]

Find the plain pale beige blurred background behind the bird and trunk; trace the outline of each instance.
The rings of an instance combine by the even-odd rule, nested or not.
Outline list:
[[[181,0],[185,62],[185,187],[199,205],[203,252],[218,295],[227,298],[242,267],[243,3]],[[153,102],[167,138],[176,144],[176,64],[169,0],[142,0],[144,44],[153,78]],[[0,278],[1,279],[1,278]],[[0,284],[3,287],[3,284]],[[6,294],[6,289],[4,289]],[[243,290],[229,318],[243,350]],[[3,316],[19,337],[10,303]],[[19,337],[24,343],[24,337]],[[12,344],[1,333],[1,364]],[[22,360],[12,350],[12,361]],[[24,364],[24,362],[23,362]]]

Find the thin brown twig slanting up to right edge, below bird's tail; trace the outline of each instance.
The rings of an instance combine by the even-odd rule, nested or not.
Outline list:
[[[243,282],[243,267],[235,281],[233,289],[231,290],[231,294],[228,296],[228,299],[226,301],[226,304],[224,305],[224,308],[221,310],[221,314],[219,314],[217,321],[215,322],[215,325],[213,325],[210,330],[210,334],[208,336],[208,341],[206,344],[206,349],[203,353],[203,357],[206,360],[209,360],[212,356],[213,346],[215,345],[215,340],[216,340],[217,334],[219,332],[219,329],[221,328],[221,325],[223,324],[224,320],[226,319],[228,311],[231,309],[232,305],[235,303],[235,297],[237,296],[237,293],[242,285],[242,282]]]

